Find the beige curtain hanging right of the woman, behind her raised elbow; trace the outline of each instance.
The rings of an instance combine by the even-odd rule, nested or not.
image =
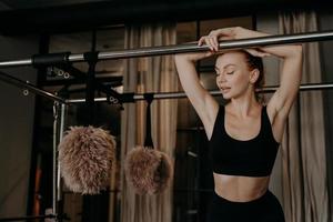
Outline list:
[[[316,31],[314,12],[280,14],[280,33]],[[317,43],[304,44],[302,83],[321,82]],[[323,97],[300,92],[282,144],[283,206],[287,222],[329,221]]]

